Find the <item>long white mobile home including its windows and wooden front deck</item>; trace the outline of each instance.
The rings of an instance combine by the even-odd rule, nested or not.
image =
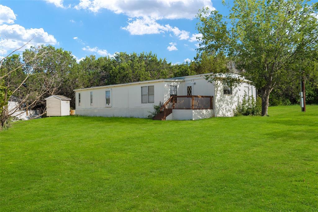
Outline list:
[[[77,115],[145,118],[153,105],[166,111],[160,119],[189,120],[232,116],[244,91],[256,97],[255,87],[242,81],[229,88],[221,81],[205,80],[211,74],[149,80],[76,89]]]

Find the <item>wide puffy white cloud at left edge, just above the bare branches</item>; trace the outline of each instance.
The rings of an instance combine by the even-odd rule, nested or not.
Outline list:
[[[8,53],[9,50],[20,48],[29,40],[31,40],[29,44],[20,49],[20,51],[24,51],[31,46],[58,44],[54,36],[45,32],[43,28],[25,29],[23,26],[17,24],[4,24],[0,25],[0,35],[0,46],[3,54]]]

